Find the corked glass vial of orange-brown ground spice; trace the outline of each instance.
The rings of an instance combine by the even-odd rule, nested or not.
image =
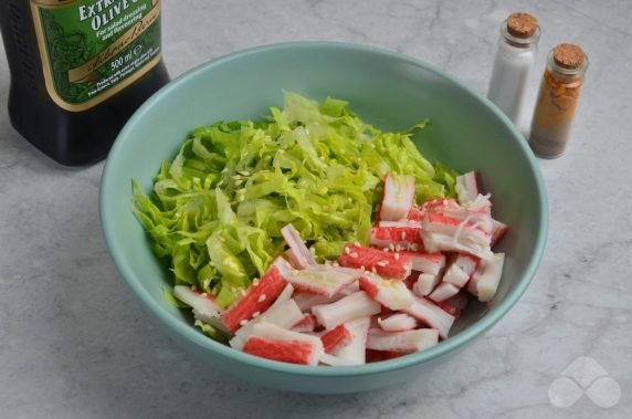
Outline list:
[[[578,45],[562,43],[549,52],[529,135],[538,157],[563,154],[587,69],[588,56]]]

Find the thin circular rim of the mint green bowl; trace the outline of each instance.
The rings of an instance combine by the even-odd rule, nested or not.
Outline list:
[[[282,50],[289,51],[295,49],[299,50],[328,49],[328,50],[341,50],[348,52],[370,53],[375,55],[380,55],[388,60],[397,60],[400,62],[412,64],[418,67],[423,67],[424,70],[434,73],[439,77],[443,77],[459,85],[464,92],[474,96],[474,98],[481,102],[482,105],[487,106],[496,115],[496,117],[501,118],[504,122],[509,132],[513,133],[516,143],[518,143],[518,146],[525,154],[528,167],[534,174],[536,187],[539,191],[538,196],[540,198],[539,211],[541,213],[541,218],[540,218],[540,223],[538,226],[538,235],[535,243],[535,253],[531,260],[529,261],[527,269],[525,270],[525,273],[522,275],[516,286],[508,292],[505,298],[498,305],[491,308],[483,317],[476,320],[474,324],[461,331],[459,335],[450,337],[444,342],[440,343],[439,345],[417,354],[410,354],[408,356],[402,356],[396,359],[390,359],[373,364],[358,365],[358,366],[312,367],[312,366],[294,365],[275,360],[268,360],[242,353],[240,350],[233,349],[230,346],[222,345],[213,341],[212,338],[206,336],[204,334],[200,333],[197,328],[193,327],[193,325],[189,325],[188,327],[183,325],[181,320],[172,316],[171,314],[167,313],[160,307],[160,305],[154,300],[154,297],[149,294],[149,292],[147,292],[144,289],[144,286],[139,282],[139,279],[136,277],[131,269],[126,263],[124,263],[124,254],[122,250],[114,245],[116,241],[113,233],[114,218],[110,214],[110,211],[108,210],[108,207],[110,205],[108,196],[115,192],[120,193],[120,191],[116,190],[115,188],[116,185],[114,185],[115,165],[116,161],[118,160],[117,156],[124,151],[124,145],[120,138],[126,137],[128,133],[134,129],[134,125],[136,124],[136,122],[140,121],[143,116],[150,111],[154,104],[161,101],[162,97],[169,95],[171,91],[179,88],[179,86],[186,83],[187,80],[193,78],[198,76],[200,73],[204,73],[213,67],[224,65],[225,63],[231,62],[233,60],[240,60],[242,57],[255,54],[265,54],[272,51],[282,51]],[[549,223],[547,190],[536,157],[533,155],[533,151],[528,147],[523,135],[518,132],[518,129],[514,126],[514,124],[509,121],[509,118],[501,109],[498,109],[489,99],[487,99],[481,93],[467,86],[464,82],[460,81],[450,73],[439,69],[433,64],[429,64],[420,59],[379,46],[349,43],[349,42],[337,42],[337,41],[293,41],[293,42],[264,44],[235,51],[227,55],[213,59],[209,62],[202,63],[185,72],[183,74],[179,75],[173,81],[165,85],[135,112],[135,114],[129,118],[127,124],[118,134],[103,169],[101,190],[99,190],[99,212],[101,212],[102,232],[105,238],[106,247],[110,253],[110,256],[115,263],[117,271],[119,272],[120,276],[123,276],[123,280],[127,284],[127,286],[129,286],[133,293],[138,297],[138,300],[140,300],[143,306],[147,311],[149,311],[156,317],[157,321],[159,321],[158,323],[168,328],[168,332],[172,338],[176,339],[176,336],[178,336],[178,338],[188,339],[191,343],[204,349],[210,350],[211,353],[218,353],[221,356],[230,358],[232,362],[241,363],[251,367],[256,367],[260,369],[271,370],[275,373],[284,373],[284,374],[299,375],[299,376],[313,376],[313,377],[355,377],[355,376],[368,376],[379,373],[394,371],[411,367],[417,364],[430,362],[432,359],[452,353],[457,348],[466,345],[467,343],[473,342],[477,336],[483,335],[485,332],[492,328],[492,326],[494,326],[503,316],[505,316],[505,314],[507,314],[507,312],[517,303],[517,301],[520,298],[520,296],[525,293],[525,291],[531,283],[544,254],[548,234],[548,223]],[[182,344],[182,342],[177,342],[177,343]]]

